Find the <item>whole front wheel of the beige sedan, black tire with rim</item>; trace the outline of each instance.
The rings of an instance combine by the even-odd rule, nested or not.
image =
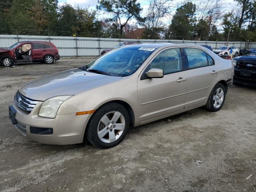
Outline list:
[[[94,112],[86,127],[85,137],[98,148],[111,148],[125,138],[129,125],[130,117],[126,108],[118,103],[110,102]]]

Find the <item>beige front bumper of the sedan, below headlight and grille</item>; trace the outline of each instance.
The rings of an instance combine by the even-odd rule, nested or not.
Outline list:
[[[75,113],[57,114],[54,119],[43,118],[38,116],[41,104],[42,102],[38,102],[29,113],[13,102],[12,107],[16,110],[14,126],[22,135],[42,144],[66,145],[83,142],[84,131],[91,114],[78,116]],[[34,127],[52,128],[52,134],[32,134],[30,128]]]

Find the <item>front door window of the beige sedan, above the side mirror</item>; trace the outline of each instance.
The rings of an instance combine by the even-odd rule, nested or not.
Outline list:
[[[180,48],[164,50],[150,63],[148,70],[152,68],[162,69],[164,74],[182,70]]]

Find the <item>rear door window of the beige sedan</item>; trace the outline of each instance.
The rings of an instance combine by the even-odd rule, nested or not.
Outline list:
[[[205,67],[208,65],[213,65],[213,59],[206,54],[206,52],[195,49],[195,48],[185,48],[187,57],[188,57],[188,68],[198,68],[198,67]]]

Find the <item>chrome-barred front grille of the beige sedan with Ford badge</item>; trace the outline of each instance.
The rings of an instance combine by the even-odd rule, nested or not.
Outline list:
[[[26,98],[25,96],[20,94],[19,91],[17,91],[14,96],[14,102],[19,108],[22,108],[23,110],[28,112],[32,111],[34,106],[36,106],[36,104],[38,103],[38,101],[36,100]]]

